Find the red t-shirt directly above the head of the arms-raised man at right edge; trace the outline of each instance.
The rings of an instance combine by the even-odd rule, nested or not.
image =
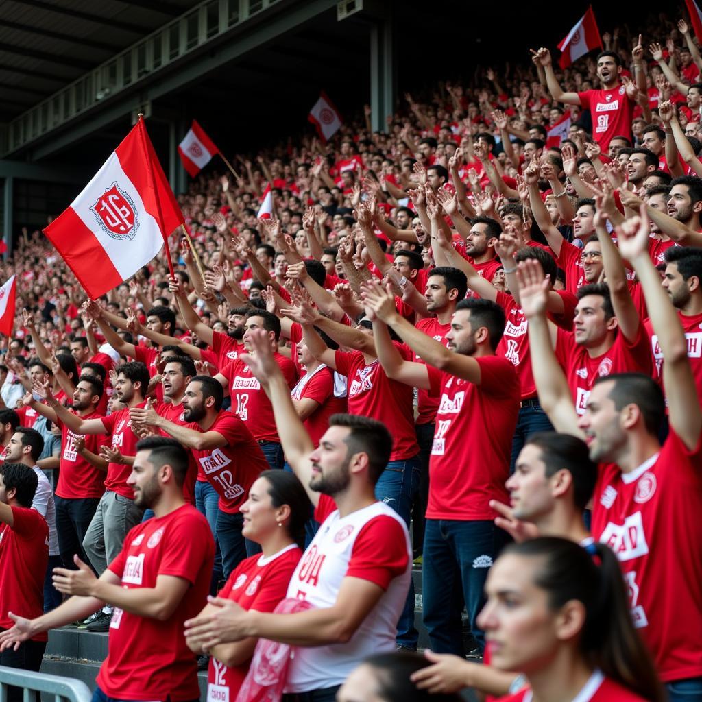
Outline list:
[[[639,324],[633,343],[629,343],[623,333],[617,331],[611,347],[595,357],[591,357],[584,346],[576,344],[572,331],[558,329],[555,351],[558,362],[565,371],[578,414],[585,413],[592,385],[595,385],[595,380],[600,376],[609,376],[611,373],[653,375],[649,337],[643,324]]]

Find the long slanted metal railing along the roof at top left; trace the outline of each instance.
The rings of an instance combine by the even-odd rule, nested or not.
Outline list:
[[[280,0],[204,0],[15,117],[0,153],[11,153],[179,60]]]

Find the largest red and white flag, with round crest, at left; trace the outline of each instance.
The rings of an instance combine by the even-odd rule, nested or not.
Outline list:
[[[184,223],[143,119],[44,233],[91,298],[112,290],[161,251]],[[168,247],[166,246],[168,253]]]

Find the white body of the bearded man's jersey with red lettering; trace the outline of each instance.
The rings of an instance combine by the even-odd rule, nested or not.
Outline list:
[[[404,522],[388,505],[376,502],[343,518],[338,510],[331,512],[300,559],[290,579],[287,596],[307,600],[314,607],[332,607],[347,574],[357,537],[376,517],[392,517],[402,527],[407,551],[404,573],[392,578],[349,642],[295,649],[286,692],[300,693],[340,685],[364,658],[395,651],[397,621],[412,576],[412,550]]]

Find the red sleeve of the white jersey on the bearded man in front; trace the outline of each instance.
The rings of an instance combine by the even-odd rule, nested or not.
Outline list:
[[[409,561],[404,530],[397,519],[381,515],[365,524],[351,552],[346,575],[375,583],[387,590]]]

